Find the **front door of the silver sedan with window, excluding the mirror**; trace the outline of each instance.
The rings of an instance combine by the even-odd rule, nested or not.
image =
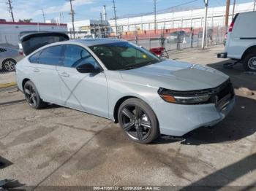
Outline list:
[[[57,69],[64,105],[108,117],[108,86],[104,72],[80,73],[76,69],[84,63],[97,68],[99,63],[86,49],[74,44],[66,45],[62,63]]]

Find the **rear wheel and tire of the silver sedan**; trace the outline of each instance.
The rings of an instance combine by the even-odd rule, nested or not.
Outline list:
[[[37,88],[33,82],[27,81],[23,87],[23,90],[26,101],[28,102],[29,106],[31,106],[31,108],[42,109],[45,107],[46,103],[40,98]]]

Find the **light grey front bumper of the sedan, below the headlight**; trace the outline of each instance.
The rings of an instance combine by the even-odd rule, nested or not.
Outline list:
[[[183,136],[196,128],[216,125],[233,109],[235,102],[233,97],[220,110],[215,104],[180,105],[161,101],[156,109],[160,133]]]

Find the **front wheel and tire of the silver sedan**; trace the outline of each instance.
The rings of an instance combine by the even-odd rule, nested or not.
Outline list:
[[[156,115],[138,98],[129,98],[121,104],[118,121],[128,138],[140,144],[148,144],[159,136]]]

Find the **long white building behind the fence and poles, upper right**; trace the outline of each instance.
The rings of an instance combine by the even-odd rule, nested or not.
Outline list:
[[[254,2],[236,4],[235,14],[237,12],[249,12],[253,10]],[[226,7],[208,8],[208,27],[224,26]],[[229,22],[232,20],[233,5],[230,5]],[[157,29],[167,28],[198,28],[203,26],[203,17],[205,9],[191,9],[181,12],[170,12],[157,15]],[[115,20],[109,20],[111,29],[116,32]],[[139,17],[126,17],[117,20],[117,26],[120,31],[143,31],[154,30],[154,15],[142,15]]]

